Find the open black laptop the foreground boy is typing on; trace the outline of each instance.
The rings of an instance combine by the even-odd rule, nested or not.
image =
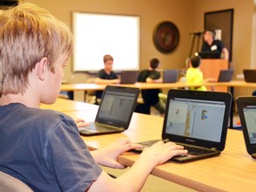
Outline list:
[[[172,161],[183,163],[220,155],[226,144],[231,100],[229,92],[168,92],[162,140],[188,149],[187,155],[173,156]],[[140,144],[148,147],[156,141]],[[135,151],[141,152],[143,149],[137,148]]]

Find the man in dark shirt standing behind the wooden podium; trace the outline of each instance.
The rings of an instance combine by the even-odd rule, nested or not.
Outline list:
[[[219,40],[214,39],[215,31],[212,29],[204,30],[204,44],[202,46],[202,52],[218,52],[223,55],[223,59],[228,60],[228,49]]]

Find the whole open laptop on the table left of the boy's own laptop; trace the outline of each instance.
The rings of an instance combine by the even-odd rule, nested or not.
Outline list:
[[[106,86],[95,121],[78,128],[80,134],[91,136],[124,132],[131,122],[139,93],[139,88]]]

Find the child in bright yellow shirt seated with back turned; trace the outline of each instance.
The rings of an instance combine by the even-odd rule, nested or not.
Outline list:
[[[186,71],[186,82],[188,84],[203,84],[204,82],[216,81],[214,78],[204,79],[203,73],[200,70],[201,57],[196,55],[190,59],[190,67]],[[189,87],[194,91],[207,91],[204,85]]]

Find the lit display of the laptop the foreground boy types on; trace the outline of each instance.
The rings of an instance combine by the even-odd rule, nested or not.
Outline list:
[[[220,142],[224,102],[173,98],[169,105],[166,133]]]

